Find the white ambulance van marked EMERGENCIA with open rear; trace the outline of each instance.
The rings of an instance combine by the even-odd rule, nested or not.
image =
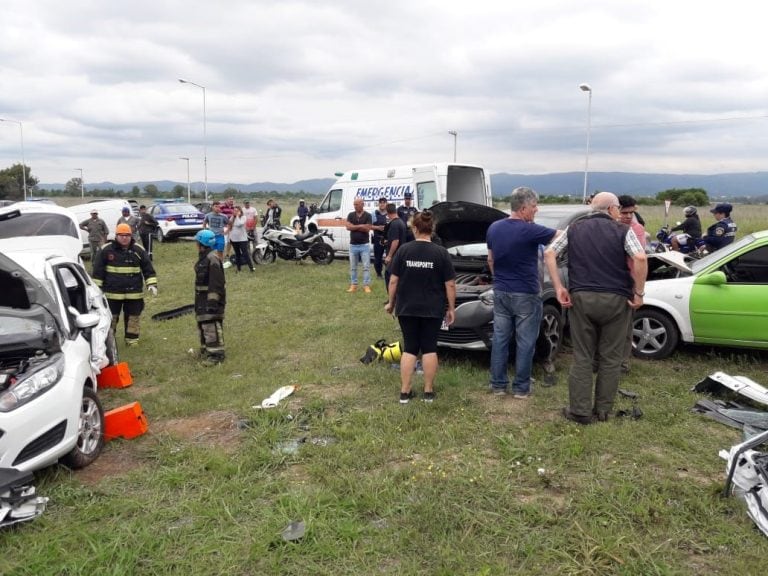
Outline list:
[[[446,201],[493,205],[491,179],[480,166],[435,163],[350,170],[336,176],[339,179],[320,202],[310,222],[332,232],[330,243],[341,252],[349,251],[346,222],[347,215],[354,210],[352,202],[356,197],[365,201],[365,209],[371,214],[377,209],[379,198],[400,206],[406,192],[413,195],[413,206],[419,210]],[[293,220],[291,226],[294,226]]]

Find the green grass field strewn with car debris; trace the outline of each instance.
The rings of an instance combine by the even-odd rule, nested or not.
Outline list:
[[[740,233],[768,227],[766,207],[737,210]],[[661,224],[661,209],[642,212]],[[150,320],[192,301],[196,248],[156,248],[160,294],[140,346],[121,342],[134,385],[100,393],[107,409],[141,402],[149,432],[85,470],[37,474],[48,509],[0,533],[0,574],[765,571],[768,540],[719,494],[717,452],[740,435],[692,414],[690,388],[716,370],[768,384],[768,355],[635,361],[622,387],[640,394],[637,421],[559,416],[568,350],[527,402],[487,393],[487,354],[445,353],[436,402],[400,406],[397,372],[358,361],[399,337],[381,281],[346,294],[345,262],[229,269],[227,360],[206,369],[188,353],[192,316]],[[279,407],[252,407],[285,384],[299,389]],[[284,542],[297,520],[304,537]]]

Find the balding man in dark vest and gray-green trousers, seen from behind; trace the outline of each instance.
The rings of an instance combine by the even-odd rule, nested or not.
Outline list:
[[[563,416],[579,424],[603,422],[613,410],[624,342],[632,311],[643,305],[648,271],[637,236],[629,226],[618,222],[616,195],[600,192],[590,206],[592,213],[571,224],[544,252],[557,300],[564,308],[571,308],[570,405],[563,408]],[[563,286],[557,270],[557,256],[566,251],[568,288]],[[630,259],[634,263],[631,271]]]

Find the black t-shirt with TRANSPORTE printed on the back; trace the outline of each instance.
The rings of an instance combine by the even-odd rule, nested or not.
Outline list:
[[[403,244],[395,253],[390,272],[398,277],[397,316],[445,316],[448,307],[445,283],[456,277],[445,248],[422,241]]]

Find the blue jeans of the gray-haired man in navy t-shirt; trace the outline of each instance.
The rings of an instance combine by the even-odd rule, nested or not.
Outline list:
[[[494,290],[491,349],[491,388],[494,390],[506,390],[509,384],[509,343],[514,336],[515,379],[512,392],[528,394],[531,391],[531,368],[542,314],[543,305],[538,294]]]

